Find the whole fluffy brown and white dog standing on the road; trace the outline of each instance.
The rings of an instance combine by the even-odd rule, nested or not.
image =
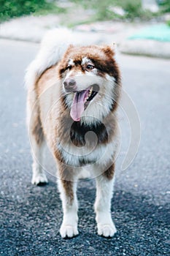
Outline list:
[[[76,187],[85,167],[96,178],[98,235],[116,232],[110,212],[117,152],[120,71],[109,46],[69,45],[67,31],[47,33],[26,73],[27,121],[33,184],[47,183],[42,168],[46,140],[58,169],[63,206],[60,233],[78,234]]]

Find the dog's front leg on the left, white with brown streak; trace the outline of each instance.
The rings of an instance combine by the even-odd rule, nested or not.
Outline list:
[[[69,167],[68,167],[69,168]],[[72,170],[64,170],[66,173],[72,172]],[[60,172],[61,173],[61,172]],[[65,176],[64,178],[69,178],[70,176]],[[58,179],[58,189],[61,193],[61,200],[63,206],[63,222],[61,224],[60,233],[62,238],[72,238],[73,236],[78,235],[77,230],[77,182],[71,180],[63,179],[63,175],[61,175],[61,179]]]

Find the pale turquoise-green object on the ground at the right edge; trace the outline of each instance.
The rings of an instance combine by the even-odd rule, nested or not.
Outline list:
[[[170,27],[166,24],[158,24],[142,29],[128,39],[152,39],[162,42],[170,42]]]

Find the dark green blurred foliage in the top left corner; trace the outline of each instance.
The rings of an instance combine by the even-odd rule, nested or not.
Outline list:
[[[42,11],[50,12],[57,11],[59,8],[54,1],[45,0],[0,0],[0,20],[8,20],[9,18],[29,15],[35,12]]]

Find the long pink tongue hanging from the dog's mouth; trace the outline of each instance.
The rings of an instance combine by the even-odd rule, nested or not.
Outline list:
[[[88,94],[88,90],[77,91],[74,94],[72,108],[70,111],[70,116],[74,121],[80,121],[82,112],[85,110],[84,103],[85,103],[85,98],[87,94]]]

